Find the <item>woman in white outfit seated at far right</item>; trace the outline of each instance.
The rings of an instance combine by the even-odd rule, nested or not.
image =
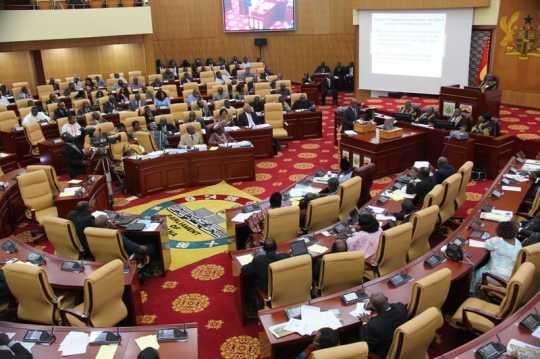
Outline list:
[[[506,281],[512,275],[512,269],[521,250],[521,242],[517,239],[518,224],[515,222],[501,222],[497,225],[496,236],[484,242],[484,248],[489,251],[489,261],[474,273],[471,283],[471,292],[475,293],[482,283],[482,274],[491,273]]]

